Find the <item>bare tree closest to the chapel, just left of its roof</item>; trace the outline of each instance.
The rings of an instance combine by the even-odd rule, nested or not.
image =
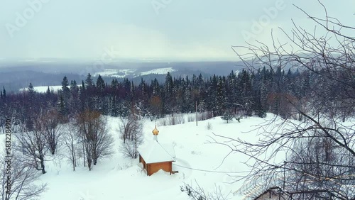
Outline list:
[[[119,151],[126,157],[137,158],[138,147],[143,143],[142,121],[132,114],[127,119],[122,118],[119,133],[123,140]]]

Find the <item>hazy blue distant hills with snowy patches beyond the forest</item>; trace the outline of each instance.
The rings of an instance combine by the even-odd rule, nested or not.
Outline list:
[[[156,78],[165,81],[168,72],[173,77],[192,77],[192,74],[202,74],[210,77],[213,74],[227,75],[232,70],[241,70],[241,62],[111,62],[107,65],[97,65],[97,62],[9,62],[1,63],[0,87],[7,91],[18,91],[33,86],[60,85],[62,78],[75,79],[81,84],[88,73],[95,78],[102,75],[106,82],[112,79],[128,78],[133,82],[144,79],[150,83]]]

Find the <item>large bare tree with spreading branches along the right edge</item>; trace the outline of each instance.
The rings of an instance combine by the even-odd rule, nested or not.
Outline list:
[[[232,47],[250,70],[296,67],[308,76],[310,84],[300,98],[290,96],[278,82],[277,95],[288,110],[282,122],[278,124],[275,118],[261,125],[259,136],[263,140],[257,143],[228,138],[231,142],[223,145],[254,160],[247,179],[267,174],[262,184],[268,185],[271,182],[266,180],[284,174],[280,188],[291,198],[354,199],[355,123],[351,118],[355,116],[355,28],[328,16],[327,9],[319,4],[325,18],[296,8],[324,35],[317,36],[318,31],[307,31],[293,22],[290,34],[281,29],[288,43],[273,38],[272,46],[258,43]],[[239,53],[246,50],[246,54]],[[294,115],[302,121],[293,121]],[[285,162],[277,159],[285,154]]]

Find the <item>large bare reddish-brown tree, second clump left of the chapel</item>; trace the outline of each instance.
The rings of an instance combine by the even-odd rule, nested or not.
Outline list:
[[[114,140],[109,133],[107,119],[97,111],[84,111],[78,114],[76,124],[84,144],[87,166],[92,170],[92,164],[96,165],[100,157],[113,154]]]

